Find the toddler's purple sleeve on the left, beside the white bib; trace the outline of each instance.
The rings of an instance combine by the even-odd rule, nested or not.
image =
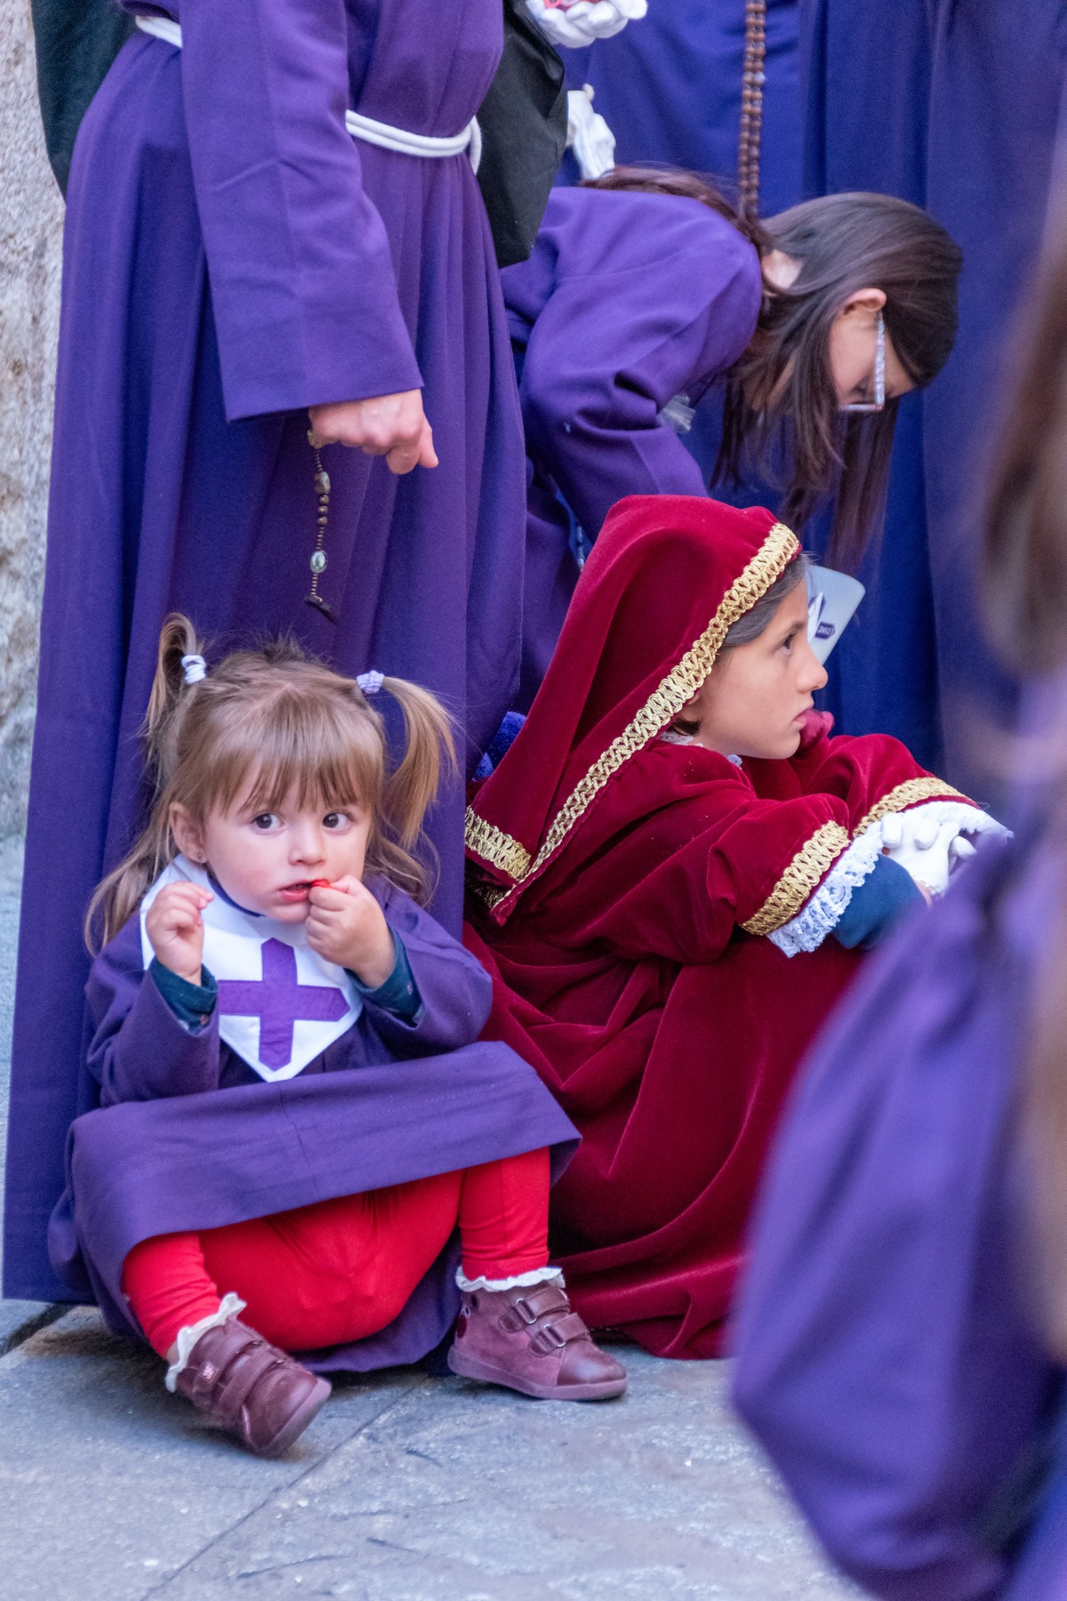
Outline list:
[[[93,962],[86,999],[94,1026],[88,1069],[101,1087],[101,1106],[219,1087],[218,1009],[202,1031],[182,1028],[144,970],[139,919]]]

